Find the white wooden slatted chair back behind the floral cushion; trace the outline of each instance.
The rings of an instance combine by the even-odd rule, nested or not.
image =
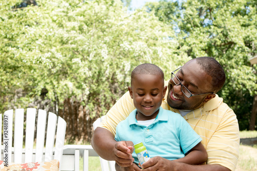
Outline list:
[[[60,165],[62,164],[66,122],[61,117],[58,117],[57,123],[57,116],[54,113],[49,112],[48,121],[46,122],[46,111],[39,109],[38,123],[36,125],[37,129],[35,148],[33,148],[35,142],[35,108],[28,108],[26,112],[25,148],[23,148],[24,109],[16,109],[14,115],[12,109],[7,110],[4,113],[3,120],[2,114],[0,114],[0,117],[0,124],[3,125],[2,127],[0,127],[1,132],[3,128],[3,145],[1,147],[1,160],[6,161],[6,158],[4,158],[4,156],[8,156],[8,163],[42,162],[57,159],[60,161]],[[45,129],[46,125],[47,131]],[[45,136],[46,143],[44,146]],[[12,138],[14,139],[13,146]],[[2,142],[1,136],[0,142]]]

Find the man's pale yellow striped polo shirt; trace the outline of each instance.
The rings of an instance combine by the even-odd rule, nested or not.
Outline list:
[[[179,113],[168,105],[167,94],[168,90],[161,107]],[[133,99],[127,91],[106,113],[99,127],[106,128],[115,135],[117,124],[125,120],[134,109]],[[215,98],[183,118],[203,139],[201,143],[208,153],[207,164],[219,164],[235,170],[240,145],[238,121],[233,110],[223,103],[223,99],[216,94]]]

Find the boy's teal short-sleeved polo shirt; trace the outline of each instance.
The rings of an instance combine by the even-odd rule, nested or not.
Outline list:
[[[157,117],[149,126],[139,124],[136,115],[137,109],[117,125],[115,140],[132,141],[134,144],[142,142],[150,158],[179,159],[201,142],[200,136],[178,113],[160,107]],[[132,156],[138,164],[135,151]]]

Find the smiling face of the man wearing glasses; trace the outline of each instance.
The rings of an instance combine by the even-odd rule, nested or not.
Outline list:
[[[190,90],[192,94],[200,94],[211,91],[211,76],[208,75],[195,60],[186,63],[177,73],[180,82]],[[167,102],[170,107],[181,110],[193,110],[207,102],[210,96],[215,94],[204,94],[187,98],[181,91],[181,85],[176,85],[170,79]],[[208,98],[207,98],[208,97]]]

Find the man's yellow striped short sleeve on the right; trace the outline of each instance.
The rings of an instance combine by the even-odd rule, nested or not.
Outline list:
[[[238,122],[234,112],[229,109],[207,145],[207,164],[219,164],[232,171],[235,170],[239,146]]]

